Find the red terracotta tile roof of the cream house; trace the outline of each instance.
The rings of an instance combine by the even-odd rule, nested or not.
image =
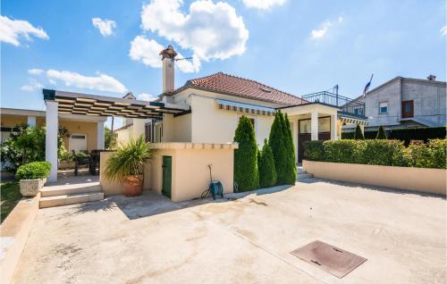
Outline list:
[[[243,79],[218,72],[198,79],[190,79],[182,88],[200,88],[231,96],[246,97],[276,104],[305,104],[306,100],[266,86],[252,79]],[[182,89],[181,88],[181,89]],[[180,89],[179,89],[180,90]]]

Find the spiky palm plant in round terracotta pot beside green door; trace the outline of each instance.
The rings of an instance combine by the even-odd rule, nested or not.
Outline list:
[[[124,185],[125,196],[139,196],[143,191],[143,166],[154,156],[154,150],[143,136],[120,145],[105,166],[105,178]]]

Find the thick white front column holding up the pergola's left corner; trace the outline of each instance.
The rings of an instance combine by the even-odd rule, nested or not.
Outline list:
[[[57,181],[57,102],[45,101],[46,103],[46,137],[45,137],[45,159],[51,163],[49,182]]]

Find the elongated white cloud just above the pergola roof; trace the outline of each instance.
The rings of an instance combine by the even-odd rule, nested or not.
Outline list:
[[[46,71],[46,77],[50,82],[62,81],[65,86],[76,88],[88,88],[105,92],[124,93],[127,88],[114,77],[97,72],[96,77],[84,76],[72,71]]]

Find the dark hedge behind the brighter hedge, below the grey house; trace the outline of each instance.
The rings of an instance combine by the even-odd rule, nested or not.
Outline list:
[[[342,139],[353,139],[355,132],[343,132]],[[375,139],[377,131],[365,131],[365,139]],[[405,146],[409,146],[411,140],[428,142],[430,139],[446,138],[445,127],[426,127],[418,129],[389,129],[387,136],[392,140],[401,140]]]

